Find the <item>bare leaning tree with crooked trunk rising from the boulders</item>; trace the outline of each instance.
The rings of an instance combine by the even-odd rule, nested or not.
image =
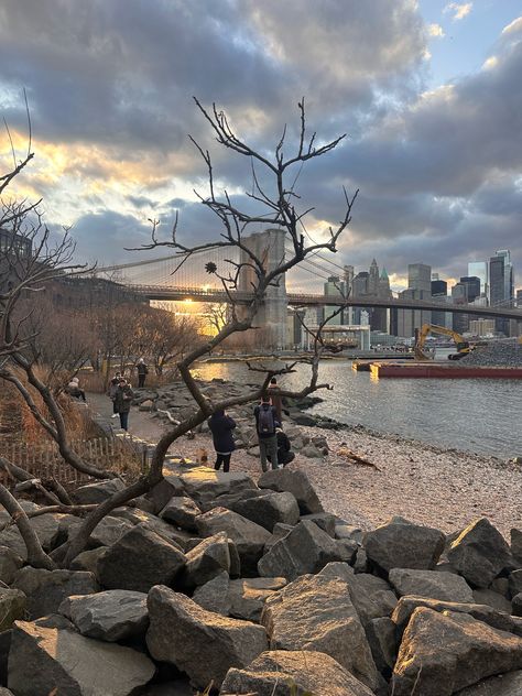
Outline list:
[[[278,370],[263,369],[264,380],[258,389],[252,389],[251,392],[241,398],[230,398],[220,402],[213,402],[203,394],[191,372],[191,368],[198,358],[210,354],[228,337],[251,329],[254,317],[269,287],[278,285],[284,273],[298,265],[311,254],[316,252],[335,252],[339,238],[350,222],[351,209],[357,192],[354,196],[349,197],[344,189],[345,211],[342,219],[336,228],[328,228],[326,231],[326,240],[308,244],[306,243],[305,236],[302,233],[304,218],[313,208],[306,208],[305,206],[303,206],[302,209],[297,208],[297,205],[301,205],[301,199],[295,193],[294,187],[298,171],[306,162],[333,151],[345,138],[341,135],[325,144],[316,144],[316,133],[312,133],[311,137],[307,135],[304,100],[298,104],[300,129],[294,153],[289,157],[284,154],[286,145],[285,128],[275,146],[274,156],[271,159],[253,150],[236,135],[227,116],[222,111],[219,111],[215,105],[213,105],[211,109],[205,109],[197,99],[195,99],[195,102],[203,117],[207,120],[219,145],[230,151],[231,154],[244,156],[250,161],[253,187],[252,192],[248,193],[248,196],[259,205],[260,211],[252,215],[239,209],[235,206],[227,192],[224,192],[222,196],[218,195],[210,153],[191,138],[202,155],[208,173],[208,194],[206,196],[198,194],[198,197],[200,203],[211,210],[220,220],[222,225],[220,238],[210,243],[196,244],[193,247],[186,246],[177,236],[176,216],[171,238],[161,240],[159,238],[159,222],[154,221],[151,243],[145,244],[144,248],[156,249],[157,247],[170,247],[175,249],[183,254],[181,264],[196,252],[210,251],[216,248],[229,248],[231,251],[239,250],[242,252],[246,261],[235,261],[230,259],[227,263],[228,269],[225,272],[218,270],[217,265],[211,261],[208,261],[205,265],[206,271],[209,274],[214,274],[220,281],[229,300],[230,315],[227,323],[220,327],[216,336],[196,346],[177,362],[180,374],[196,403],[197,411],[174,426],[159,441],[152,457],[150,471],[142,477],[142,479],[129,486],[126,490],[118,491],[87,515],[80,529],[70,541],[65,553],[65,558],[63,558],[63,552],[61,550],[58,550],[56,554],[57,557],[63,558],[65,566],[83,551],[90,533],[106,514],[115,508],[129,502],[137,496],[148,492],[162,480],[163,460],[173,442],[203,423],[217,409],[228,409],[233,405],[258,400],[265,391],[270,379],[274,374],[283,374],[293,371],[295,363],[286,365]],[[262,175],[258,172],[258,168],[263,170]],[[265,177],[271,182],[271,192],[268,191],[265,185],[261,184],[261,181],[265,181]],[[244,238],[252,229],[252,226],[259,227],[260,224],[267,227],[283,229],[286,235],[287,243],[292,249],[289,258],[282,259],[281,263],[274,269],[269,270],[267,268],[265,253],[257,255],[244,242]],[[251,287],[251,300],[246,307],[241,307],[242,311],[239,313],[235,294],[238,291],[240,275],[247,269],[253,275],[254,281]],[[282,395],[302,398],[317,389],[328,388],[328,384],[318,382],[318,365],[322,355],[322,342],[319,338],[314,341],[314,356],[307,360],[311,367],[308,383],[300,392],[282,391]],[[259,368],[257,369],[259,370]]]

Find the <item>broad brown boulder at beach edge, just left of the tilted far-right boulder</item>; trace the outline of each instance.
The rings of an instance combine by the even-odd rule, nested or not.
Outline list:
[[[439,530],[413,524],[403,518],[365,534],[368,558],[382,570],[392,568],[431,569],[444,551],[445,536]]]

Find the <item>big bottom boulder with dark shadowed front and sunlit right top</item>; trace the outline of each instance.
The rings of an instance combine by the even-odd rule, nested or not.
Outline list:
[[[197,688],[219,687],[230,667],[246,667],[268,649],[261,626],[205,611],[167,587],[153,587],[148,607],[150,654],[185,672]]]

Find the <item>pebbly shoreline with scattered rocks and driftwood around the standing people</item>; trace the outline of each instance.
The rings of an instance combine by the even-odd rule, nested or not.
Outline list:
[[[209,396],[241,393],[230,382],[204,383]],[[143,392],[139,407],[153,422],[167,423],[165,413],[178,417],[189,411],[189,395],[178,385],[156,392]],[[291,469],[303,470],[316,488],[325,509],[335,512],[362,530],[372,529],[394,514],[418,524],[436,525],[445,533],[465,526],[470,519],[487,516],[509,537],[511,526],[522,526],[522,469],[518,464],[492,456],[480,456],[442,448],[400,435],[387,435],[362,425],[347,426],[317,416],[306,409],[317,398],[292,404],[284,428],[296,452]],[[160,411],[156,411],[160,409]],[[232,455],[232,470],[260,476],[252,406],[230,412],[238,422],[239,449]],[[193,439],[176,442],[173,452],[194,459],[205,448],[213,457],[211,439],[206,432]],[[314,442],[320,447],[316,447]],[[253,446],[247,448],[251,443]],[[312,445],[312,446],[311,446]],[[355,460],[349,453],[372,466]]]

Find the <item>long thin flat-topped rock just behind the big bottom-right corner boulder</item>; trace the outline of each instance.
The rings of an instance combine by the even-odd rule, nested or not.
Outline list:
[[[489,605],[459,603],[412,596],[401,597],[391,617],[400,633],[406,628],[413,612],[418,607],[426,607],[433,611],[441,612],[467,613],[477,619],[477,621],[482,621],[499,631],[516,632],[516,623],[513,617],[510,617],[509,613],[497,611]]]

